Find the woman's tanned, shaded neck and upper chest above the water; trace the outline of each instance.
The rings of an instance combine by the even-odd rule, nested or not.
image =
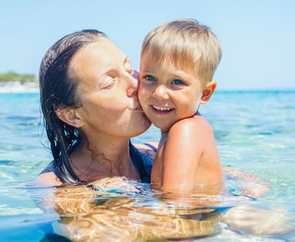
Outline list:
[[[138,178],[129,153],[129,139],[82,134],[70,154],[75,174],[86,182],[111,176]]]

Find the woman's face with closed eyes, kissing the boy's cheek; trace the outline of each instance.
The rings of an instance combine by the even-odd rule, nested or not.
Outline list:
[[[79,82],[82,131],[131,138],[149,128],[129,59],[112,41],[101,37],[79,50],[70,68]]]

